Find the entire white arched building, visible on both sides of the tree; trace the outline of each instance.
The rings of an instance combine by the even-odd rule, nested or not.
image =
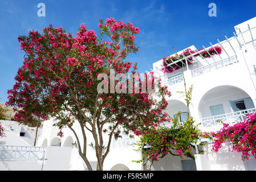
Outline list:
[[[172,73],[164,73],[162,60],[153,63],[153,71],[161,77],[163,84],[168,86],[172,97],[168,98],[166,112],[175,115],[181,111],[185,115],[187,107],[184,96],[177,91],[184,91],[184,82],[187,87],[193,84],[192,103],[189,107],[190,114],[200,125],[202,131],[217,131],[222,125],[216,122],[222,120],[227,123],[237,123],[245,119],[245,113],[255,111],[256,105],[256,17],[237,26],[234,26],[234,36],[223,41],[217,40],[216,44],[210,43],[210,47],[203,46],[202,51],[208,51],[215,46],[222,47],[220,55],[212,56],[208,59],[194,57],[196,53],[187,56],[193,57],[195,61],[178,69]],[[190,46],[196,50],[195,46]],[[186,48],[184,48],[186,49]],[[202,51],[199,51],[202,52]],[[178,53],[182,53],[182,51]],[[198,52],[197,52],[198,53]],[[169,66],[174,65],[170,64]],[[69,129],[64,129],[64,137],[57,137],[58,128],[52,126],[54,121],[45,121],[43,124],[42,135],[38,139],[36,146],[46,148],[45,169],[56,170],[84,170],[86,164],[80,158],[77,148],[72,146],[75,136]],[[78,130],[78,137],[82,138],[79,132],[80,126],[74,123]],[[92,137],[88,140],[92,141]],[[133,140],[125,138],[112,140],[112,145],[107,159],[104,162],[104,170],[140,170],[141,164],[132,162],[139,160],[140,154],[132,146],[138,138]],[[90,144],[90,142],[88,142]],[[51,150],[54,148],[54,150]],[[226,144],[217,154],[210,151],[210,143],[204,147],[204,154],[196,155],[196,160],[190,158],[181,159],[171,155],[165,156],[159,162],[155,162],[152,170],[255,170],[256,160],[250,159],[246,162],[241,160],[241,154],[231,152]],[[47,153],[49,149],[50,152]],[[55,151],[55,160],[52,158]],[[88,147],[87,156],[96,168],[96,155],[93,148]],[[63,161],[65,160],[65,162]],[[54,162],[53,162],[54,161]],[[60,168],[61,163],[65,167]],[[67,165],[69,164],[69,165]],[[52,167],[54,165],[55,167]],[[47,167],[48,166],[48,167]]]

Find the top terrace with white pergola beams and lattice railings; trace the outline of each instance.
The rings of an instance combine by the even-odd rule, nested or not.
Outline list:
[[[220,42],[217,39],[216,44],[210,43],[210,46],[205,48],[202,46],[200,51],[194,50],[194,53],[189,52],[189,55],[183,56],[182,59],[176,59],[172,61],[172,63],[167,64],[165,67],[163,64],[158,65],[157,67],[153,68],[151,71],[157,73],[157,75],[163,80],[162,84],[167,86],[177,84],[183,81],[181,70],[184,72],[190,71],[191,77],[197,77],[201,75],[205,75],[209,72],[214,72],[217,69],[223,69],[229,67],[230,65],[234,65],[239,62],[237,52],[240,51],[242,48],[247,50],[247,46],[256,47],[255,38],[256,37],[256,27],[250,28],[249,24],[247,24],[248,29],[245,31],[241,31],[238,28],[237,34],[233,32],[234,36],[231,38],[227,38],[225,36],[225,40]],[[254,36],[253,36],[254,35]],[[222,52],[218,53],[216,47],[221,47]],[[210,50],[214,50],[214,56],[210,53]],[[202,56],[202,53],[207,53],[207,57],[205,58]],[[198,56],[200,55],[200,56]],[[189,64],[188,61],[191,61],[192,64]],[[170,67],[175,70],[178,65],[181,65],[182,69],[180,71],[176,69],[173,73],[166,73],[163,71],[164,68]]]

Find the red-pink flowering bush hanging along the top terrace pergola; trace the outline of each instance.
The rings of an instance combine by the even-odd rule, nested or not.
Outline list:
[[[201,49],[198,49],[197,51],[201,51]],[[162,65],[164,66],[164,68],[162,68],[162,71],[164,71],[164,73],[172,73],[174,70],[180,69],[182,67],[184,67],[186,65],[186,61],[185,61],[185,57],[186,56],[190,56],[190,54],[196,53],[197,51],[193,51],[190,48],[185,49],[184,52],[182,52],[180,55],[178,55],[177,53],[175,54],[175,56],[165,56],[162,58]],[[209,52],[209,54],[208,54]],[[214,56],[217,54],[221,54],[222,52],[222,48],[220,46],[216,46],[214,48],[210,48],[207,51],[202,51],[201,53],[197,53],[196,55],[194,55],[194,57],[200,56],[202,57],[202,59],[204,58],[209,58],[210,56]],[[176,64],[173,64],[171,66],[168,66],[168,64],[173,63],[177,60],[181,60],[178,61]],[[190,65],[192,63],[192,61],[194,61],[193,57],[188,57],[187,59],[188,61],[188,65]]]

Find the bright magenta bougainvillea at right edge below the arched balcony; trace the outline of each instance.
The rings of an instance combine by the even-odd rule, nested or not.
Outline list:
[[[212,151],[218,152],[223,143],[229,142],[233,151],[242,152],[242,160],[250,155],[256,159],[256,113],[249,113],[245,121],[235,125],[223,125],[220,131],[204,134],[214,139]]]

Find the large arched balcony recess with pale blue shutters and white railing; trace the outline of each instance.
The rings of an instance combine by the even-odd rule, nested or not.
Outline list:
[[[249,94],[230,85],[210,89],[198,105],[202,127],[220,125],[218,120],[224,123],[241,122],[246,119],[246,113],[253,111],[255,106]]]

